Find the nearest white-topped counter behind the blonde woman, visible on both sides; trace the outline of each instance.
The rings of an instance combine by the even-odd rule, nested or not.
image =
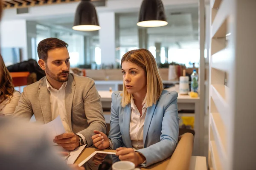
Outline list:
[[[102,108],[103,110],[107,110],[111,108],[111,94],[113,93],[110,91],[98,91],[99,95],[101,96],[102,101]],[[194,110],[194,116],[195,116],[195,142],[194,142],[194,148],[193,148],[193,155],[198,156],[200,150],[204,150],[204,115],[201,115],[199,111],[199,97],[192,98],[189,95],[180,95],[178,96],[178,109],[182,110]],[[107,108],[107,109],[106,109]],[[105,111],[105,119],[106,122],[109,123],[110,118],[110,111]],[[202,113],[204,114],[204,113]],[[201,146],[201,147],[199,147]]]

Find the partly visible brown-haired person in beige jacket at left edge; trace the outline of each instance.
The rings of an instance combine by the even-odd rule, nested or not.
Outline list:
[[[20,92],[14,90],[12,77],[0,55],[0,116],[11,116],[20,99]]]

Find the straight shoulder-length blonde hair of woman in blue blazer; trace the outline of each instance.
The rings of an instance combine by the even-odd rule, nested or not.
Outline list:
[[[147,78],[147,93],[143,103],[150,107],[157,103],[163,91],[163,82],[159,74],[157,62],[154,56],[147,49],[138,49],[128,51],[121,59],[121,65],[124,61],[132,62],[143,68]],[[131,94],[128,93],[123,81],[122,107],[131,103]]]

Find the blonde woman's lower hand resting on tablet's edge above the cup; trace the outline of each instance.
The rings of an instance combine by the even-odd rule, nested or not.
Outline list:
[[[116,149],[116,156],[119,156],[121,161],[131,161],[137,167],[139,164],[142,164],[146,159],[139,153],[135,152],[133,148],[119,147]]]

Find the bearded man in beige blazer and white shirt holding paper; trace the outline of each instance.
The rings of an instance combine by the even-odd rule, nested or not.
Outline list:
[[[100,96],[93,79],[69,73],[67,43],[48,38],[38,44],[39,66],[46,77],[26,86],[12,117],[48,123],[60,116],[67,133],[53,139],[66,150],[93,144],[93,130],[106,132]]]

